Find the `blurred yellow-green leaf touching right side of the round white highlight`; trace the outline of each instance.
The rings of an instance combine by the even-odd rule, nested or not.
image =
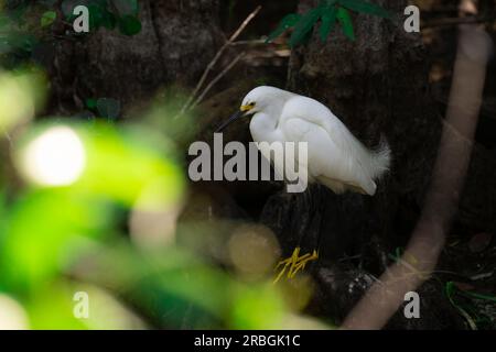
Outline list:
[[[150,202],[175,204],[184,182],[179,167],[164,158],[158,146],[147,144],[147,133],[118,133],[107,125],[82,130],[87,151],[87,166],[79,187],[132,206],[150,187],[155,189]]]

